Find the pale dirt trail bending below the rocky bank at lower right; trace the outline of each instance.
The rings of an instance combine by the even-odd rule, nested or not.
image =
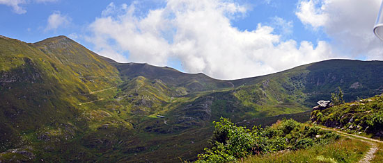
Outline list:
[[[322,128],[322,129],[323,130],[330,130],[330,131],[333,131],[333,132],[337,132],[338,134],[343,135],[345,137],[350,137],[351,139],[359,138],[358,139],[359,141],[364,141],[367,144],[370,144],[370,149],[368,150],[366,155],[364,155],[364,157],[361,160],[359,160],[359,162],[370,162],[370,160],[373,160],[373,158],[375,157],[375,153],[379,149],[377,147],[377,143],[383,144],[383,141],[380,141],[380,140],[377,140],[377,139],[371,139],[371,138],[368,138],[368,137],[362,137],[360,135],[353,135],[353,134],[349,134],[349,133],[346,133],[346,132],[338,131],[338,130],[335,130],[335,129],[329,129],[329,128]]]

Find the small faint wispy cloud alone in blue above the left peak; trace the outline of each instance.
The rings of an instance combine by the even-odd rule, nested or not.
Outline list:
[[[55,11],[48,17],[48,24],[45,31],[54,30],[60,26],[68,26],[71,18],[66,15],[61,15],[61,12]]]

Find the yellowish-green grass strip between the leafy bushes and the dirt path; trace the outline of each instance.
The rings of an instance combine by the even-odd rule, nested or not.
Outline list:
[[[326,146],[256,155],[244,159],[243,162],[358,162],[368,149],[368,144],[363,141],[343,137]]]

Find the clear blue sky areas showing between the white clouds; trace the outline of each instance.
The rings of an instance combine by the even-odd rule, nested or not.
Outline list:
[[[148,12],[150,9],[163,7],[164,3],[153,3],[150,0],[143,0],[141,4],[143,13]],[[113,1],[116,5],[123,3],[130,4],[133,1]],[[267,3],[267,1],[246,1],[251,6],[251,11],[244,17],[240,17],[232,21],[232,25],[240,30],[251,31],[257,27],[258,23],[271,24],[274,17],[282,17],[293,23],[292,35],[286,39],[292,38],[297,41],[308,40],[316,42],[318,39],[328,39],[328,37],[318,31],[306,30],[304,24],[295,16],[298,1],[275,0]],[[13,11],[11,6],[0,5],[0,31],[1,35],[7,37],[17,38],[24,42],[38,42],[47,37],[54,37],[56,35],[70,35],[72,33],[86,33],[86,27],[100,17],[102,10],[104,10],[111,1],[73,1],[73,0],[57,0],[47,2],[33,2],[21,3],[19,6],[24,8],[24,14],[17,14]],[[54,12],[61,12],[71,18],[71,23],[63,28],[45,31],[47,26],[47,18]],[[144,15],[144,14],[143,14]],[[276,33],[280,33],[280,29],[276,28]],[[81,41],[81,39],[79,40]],[[81,41],[82,42],[82,41]],[[86,43],[86,42],[82,42]],[[88,48],[91,45],[88,44]]]

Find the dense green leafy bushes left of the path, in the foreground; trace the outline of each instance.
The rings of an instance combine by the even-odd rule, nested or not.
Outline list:
[[[293,119],[278,121],[265,129],[253,127],[252,130],[236,126],[224,118],[214,124],[211,146],[205,148],[205,153],[198,155],[197,162],[231,162],[249,155],[297,151],[324,146],[340,138],[333,132]]]

